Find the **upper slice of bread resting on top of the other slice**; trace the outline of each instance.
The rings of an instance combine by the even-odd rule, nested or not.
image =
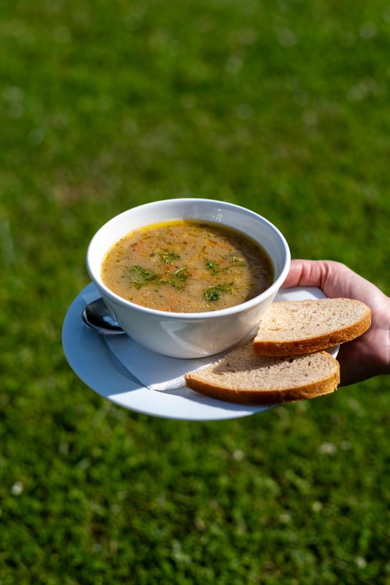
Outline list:
[[[350,298],[273,302],[253,343],[256,356],[316,352],[358,337],[371,325],[371,311]]]

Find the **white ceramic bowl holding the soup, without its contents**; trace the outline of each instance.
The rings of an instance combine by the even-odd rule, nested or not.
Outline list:
[[[250,301],[207,313],[172,313],[141,307],[102,283],[102,260],[115,242],[143,226],[173,219],[220,223],[247,234],[271,258],[273,283]],[[244,207],[213,199],[167,199],[128,209],[98,230],[87,252],[88,273],[124,331],[153,352],[186,359],[214,355],[247,336],[275,298],[289,268],[288,244],[271,222]]]

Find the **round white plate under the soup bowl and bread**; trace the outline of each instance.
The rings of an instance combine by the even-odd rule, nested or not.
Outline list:
[[[124,408],[154,417],[175,418],[183,421],[217,421],[248,417],[273,406],[230,404],[188,391],[186,396],[149,390],[139,384],[110,352],[101,335],[88,329],[81,321],[85,307],[83,295],[96,290],[88,284],[70,305],[64,319],[62,343],[66,359],[74,373],[102,397]],[[324,298],[316,287],[280,289],[275,301],[296,301],[305,298]],[[338,347],[329,349],[333,357]]]

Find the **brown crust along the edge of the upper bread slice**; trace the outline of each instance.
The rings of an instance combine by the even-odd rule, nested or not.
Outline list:
[[[353,325],[338,329],[326,335],[319,335],[312,338],[288,341],[279,343],[275,341],[261,341],[254,339],[253,353],[255,356],[289,356],[313,353],[321,349],[327,349],[351,341],[365,333],[371,325],[371,309],[367,307],[367,313]]]

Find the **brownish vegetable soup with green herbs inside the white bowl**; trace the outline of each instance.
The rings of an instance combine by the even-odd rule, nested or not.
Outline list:
[[[272,283],[265,251],[211,223],[170,221],[129,233],[102,262],[119,297],[159,311],[193,313],[239,305]]]

